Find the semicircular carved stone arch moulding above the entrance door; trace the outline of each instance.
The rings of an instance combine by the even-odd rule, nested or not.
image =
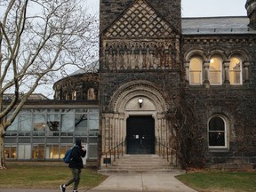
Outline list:
[[[126,104],[140,97],[148,100],[149,110],[156,110],[157,112],[168,110],[164,95],[156,87],[156,84],[141,80],[132,81],[121,86],[114,93],[109,107],[115,113],[124,113]]]

